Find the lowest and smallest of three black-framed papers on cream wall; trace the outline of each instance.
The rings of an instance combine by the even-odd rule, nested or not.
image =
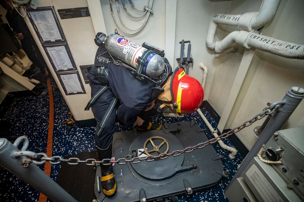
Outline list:
[[[58,73],[57,76],[66,95],[85,93],[78,71]]]

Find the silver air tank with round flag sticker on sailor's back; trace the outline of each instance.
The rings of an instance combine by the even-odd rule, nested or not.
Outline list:
[[[105,48],[111,55],[125,61],[134,68],[137,68],[137,59],[139,57],[143,58],[143,53],[147,50],[147,48],[143,48],[118,34],[107,36],[105,39]],[[165,67],[164,59],[160,55],[152,52],[146,60],[147,63],[143,67],[142,73],[150,77],[161,75]]]

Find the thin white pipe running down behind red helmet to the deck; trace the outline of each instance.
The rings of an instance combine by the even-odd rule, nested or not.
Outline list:
[[[207,77],[207,73],[208,73],[208,68],[206,67],[206,65],[204,63],[200,63],[199,67],[204,70],[204,75],[203,75],[203,79],[202,79],[202,87],[205,87],[205,82],[206,82],[206,77]],[[207,125],[207,127],[209,128],[209,130],[211,131],[212,135],[216,138],[218,137],[217,134],[217,130],[215,130],[212,125],[209,123],[209,121],[207,120],[207,118],[205,117],[205,115],[202,113],[201,109],[199,108],[198,110],[196,110],[199,115],[202,117],[203,121],[205,122],[205,124]],[[231,151],[231,153],[229,154],[229,158],[230,159],[234,159],[235,156],[237,155],[237,150],[233,147],[230,147],[228,145],[226,145],[222,140],[218,141],[219,146],[222,147],[223,149],[226,149],[228,151]]]

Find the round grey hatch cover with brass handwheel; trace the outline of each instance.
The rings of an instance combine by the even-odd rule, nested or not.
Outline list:
[[[136,154],[137,157],[145,158],[148,156],[143,146],[146,145],[146,151],[153,156],[158,156],[161,153],[165,153],[166,150],[171,153],[175,150],[184,149],[183,144],[173,134],[166,134],[162,130],[147,131],[132,142],[129,150],[129,154]],[[177,154],[177,153],[176,153]],[[166,159],[155,159],[154,161],[147,162],[141,161],[138,164],[130,163],[133,169],[142,177],[149,180],[163,180],[174,175],[184,161],[185,153],[179,156],[169,156]],[[132,170],[132,169],[131,169]]]

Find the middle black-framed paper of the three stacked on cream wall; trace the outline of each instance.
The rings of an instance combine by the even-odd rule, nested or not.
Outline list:
[[[55,72],[76,70],[76,65],[66,43],[44,45],[43,48]]]

